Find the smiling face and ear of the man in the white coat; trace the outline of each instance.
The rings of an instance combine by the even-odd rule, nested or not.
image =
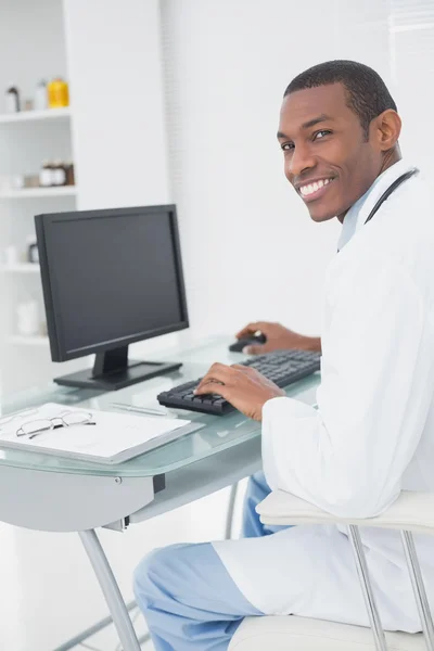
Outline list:
[[[297,92],[301,86],[303,93]],[[335,216],[343,221],[374,180],[399,161],[400,119],[380,79],[374,97],[368,88],[363,90],[365,101],[358,97],[357,77],[354,88],[340,82],[309,86],[306,88],[306,77],[303,82],[294,79],[283,100],[278,140],[285,176],[315,221]],[[321,113],[312,111],[314,106],[320,106]],[[381,117],[372,125],[379,111]],[[314,117],[306,119],[309,113]],[[374,142],[370,138],[373,126]]]

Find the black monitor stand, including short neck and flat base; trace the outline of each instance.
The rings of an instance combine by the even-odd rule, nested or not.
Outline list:
[[[181,362],[128,361],[128,346],[97,353],[93,369],[54,378],[56,384],[98,391],[116,391],[163,373],[176,371]]]

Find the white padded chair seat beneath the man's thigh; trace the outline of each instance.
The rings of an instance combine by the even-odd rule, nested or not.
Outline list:
[[[422,634],[386,633],[388,651],[425,651]],[[369,628],[307,617],[246,617],[229,651],[375,651]]]

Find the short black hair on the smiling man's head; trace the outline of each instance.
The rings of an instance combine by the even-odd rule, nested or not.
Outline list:
[[[386,111],[396,111],[396,104],[386,85],[375,71],[356,61],[327,61],[297,75],[286,88],[284,95],[296,90],[317,88],[329,84],[342,84],[347,92],[347,106],[359,119],[365,137],[369,138],[371,120]]]

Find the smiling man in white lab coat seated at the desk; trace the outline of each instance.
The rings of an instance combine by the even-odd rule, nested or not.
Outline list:
[[[278,132],[286,178],[315,221],[343,222],[318,410],[237,365],[215,363],[197,388],[263,421],[272,488],[342,518],[376,515],[401,489],[434,490],[434,212],[399,133],[365,65],[332,61],[290,84]],[[362,539],[384,628],[420,630],[399,536]],[[432,539],[420,536],[418,551],[434,598]],[[136,596],[157,651],[224,651],[247,615],[369,625],[350,542],[332,526],[158,550],[139,566]]]

